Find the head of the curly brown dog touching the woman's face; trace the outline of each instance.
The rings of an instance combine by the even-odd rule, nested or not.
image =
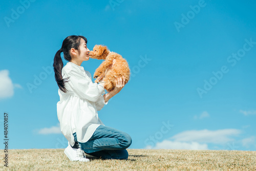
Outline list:
[[[90,51],[89,57],[93,59],[105,59],[109,54],[109,50],[106,46],[95,45],[93,50]]]

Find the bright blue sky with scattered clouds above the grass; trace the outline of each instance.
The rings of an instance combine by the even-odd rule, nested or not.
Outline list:
[[[255,7],[229,0],[0,2],[0,123],[8,113],[9,148],[67,147],[52,62],[63,39],[83,35],[90,50],[106,45],[129,63],[131,80],[99,116],[131,135],[130,148],[255,151]],[[81,66],[93,75],[101,62]]]

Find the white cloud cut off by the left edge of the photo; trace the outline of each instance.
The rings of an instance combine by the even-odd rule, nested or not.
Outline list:
[[[19,84],[13,84],[9,77],[9,70],[0,71],[0,98],[8,98],[14,95],[14,88],[22,88]]]

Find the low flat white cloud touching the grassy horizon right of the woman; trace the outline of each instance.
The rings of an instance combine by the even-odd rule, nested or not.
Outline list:
[[[179,141],[169,141],[163,140],[162,142],[157,142],[156,146],[152,147],[148,145],[146,149],[208,149],[206,143],[200,144],[198,142],[179,142]]]

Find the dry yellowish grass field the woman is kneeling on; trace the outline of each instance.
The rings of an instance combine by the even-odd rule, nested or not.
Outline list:
[[[256,170],[256,152],[127,149],[128,160],[71,162],[64,149],[10,149],[0,170]],[[1,151],[4,157],[4,150]],[[2,157],[1,157],[2,158]],[[3,161],[3,158],[2,158]]]

